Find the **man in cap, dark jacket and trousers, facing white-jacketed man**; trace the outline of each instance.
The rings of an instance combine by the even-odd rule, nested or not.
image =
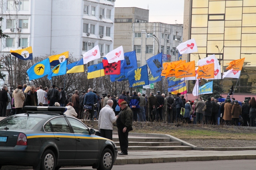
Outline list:
[[[128,107],[128,104],[125,101],[121,102],[119,105],[122,110],[118,114],[119,117],[116,120],[121,149],[121,153],[118,154],[128,155],[128,133],[132,130],[132,110]]]

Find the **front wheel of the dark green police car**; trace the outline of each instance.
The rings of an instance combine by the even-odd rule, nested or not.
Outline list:
[[[103,150],[100,156],[100,166],[97,170],[111,170],[114,164],[113,153],[110,149]]]

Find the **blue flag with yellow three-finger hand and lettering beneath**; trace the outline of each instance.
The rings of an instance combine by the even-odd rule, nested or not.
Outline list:
[[[148,67],[147,65],[134,68],[128,72],[128,80],[130,87],[148,85]]]

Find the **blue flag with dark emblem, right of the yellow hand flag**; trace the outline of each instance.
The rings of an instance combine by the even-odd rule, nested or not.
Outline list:
[[[161,76],[162,73],[162,52],[147,60],[148,67],[154,77]]]

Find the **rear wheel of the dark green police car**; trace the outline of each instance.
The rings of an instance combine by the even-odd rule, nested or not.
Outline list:
[[[44,151],[41,160],[40,170],[55,170],[56,158],[52,150]]]

